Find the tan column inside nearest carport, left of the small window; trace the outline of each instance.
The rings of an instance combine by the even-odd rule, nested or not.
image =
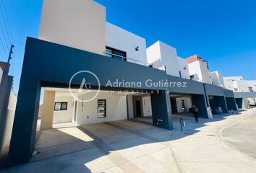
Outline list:
[[[42,110],[40,130],[49,130],[53,128],[54,102],[55,102],[55,92],[45,91],[43,96],[43,110]]]

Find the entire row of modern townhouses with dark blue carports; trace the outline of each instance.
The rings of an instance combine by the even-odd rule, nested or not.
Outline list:
[[[237,109],[204,58],[181,58],[161,41],[147,48],[145,38],[106,22],[105,6],[93,0],[44,0],[39,36],[27,37],[11,164],[30,160],[40,100],[40,130],[137,117],[173,129],[172,117],[192,105],[204,118],[211,107]]]

